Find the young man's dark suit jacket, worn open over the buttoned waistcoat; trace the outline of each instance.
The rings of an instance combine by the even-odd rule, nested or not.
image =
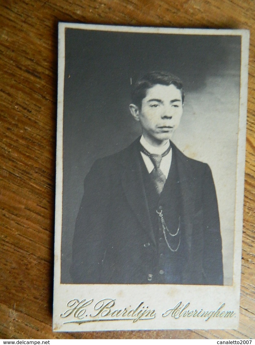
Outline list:
[[[138,141],[97,160],[85,178],[73,240],[73,283],[154,283],[148,275],[153,276],[156,269],[157,243]],[[223,284],[218,205],[210,168],[171,145],[187,244],[182,284]]]

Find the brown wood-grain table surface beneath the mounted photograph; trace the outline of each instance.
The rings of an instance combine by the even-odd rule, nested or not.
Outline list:
[[[254,338],[254,0],[0,0],[0,337]],[[249,85],[238,330],[53,333],[59,21],[249,29]]]

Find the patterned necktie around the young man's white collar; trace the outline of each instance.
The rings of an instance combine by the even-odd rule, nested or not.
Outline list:
[[[171,145],[169,145],[167,150],[163,152],[162,155],[155,155],[155,154],[151,154],[141,145],[141,152],[144,153],[146,156],[148,156],[154,165],[154,169],[151,171],[151,176],[153,178],[153,183],[157,189],[158,194],[161,194],[167,180],[166,176],[163,174],[163,172],[160,169],[161,159],[165,157],[167,154],[169,154],[170,150],[171,150]]]

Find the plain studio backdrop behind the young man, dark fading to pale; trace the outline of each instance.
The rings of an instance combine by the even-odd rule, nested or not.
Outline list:
[[[72,283],[69,266],[84,178],[97,158],[141,134],[129,113],[131,82],[152,70],[170,71],[183,81],[183,116],[172,140],[211,167],[224,284],[232,284],[240,37],[82,29],[65,34],[62,283]]]

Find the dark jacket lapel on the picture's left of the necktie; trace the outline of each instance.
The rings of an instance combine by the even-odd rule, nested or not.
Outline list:
[[[139,138],[140,139],[140,138]],[[143,230],[149,234],[153,243],[156,244],[150,214],[147,203],[147,197],[144,190],[138,141],[136,140],[125,150],[122,165],[124,171],[122,174],[122,186],[130,207],[135,217],[137,217]]]

